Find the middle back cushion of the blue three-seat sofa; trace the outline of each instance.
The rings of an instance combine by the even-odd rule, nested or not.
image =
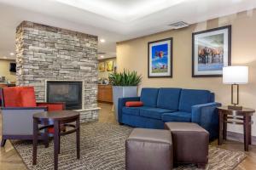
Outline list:
[[[157,107],[178,110],[181,88],[160,88],[157,98]]]

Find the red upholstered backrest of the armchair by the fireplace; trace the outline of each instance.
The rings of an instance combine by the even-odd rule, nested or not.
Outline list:
[[[3,88],[4,107],[36,107],[36,97],[33,87]]]

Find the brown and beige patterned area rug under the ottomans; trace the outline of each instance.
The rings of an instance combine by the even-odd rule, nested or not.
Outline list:
[[[125,139],[131,127],[108,123],[88,123],[81,125],[81,158],[76,159],[75,133],[61,137],[59,169],[67,170],[123,170],[125,169]],[[38,164],[32,166],[32,142],[12,140],[26,167],[31,170],[53,169],[53,141],[49,148],[38,145]],[[246,154],[209,147],[209,162],[206,169],[234,169]],[[176,167],[176,170],[197,169],[194,165]]]

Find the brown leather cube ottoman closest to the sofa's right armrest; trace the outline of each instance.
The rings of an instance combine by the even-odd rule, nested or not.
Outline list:
[[[208,162],[209,133],[192,122],[166,122],[172,133],[173,160],[205,167]]]

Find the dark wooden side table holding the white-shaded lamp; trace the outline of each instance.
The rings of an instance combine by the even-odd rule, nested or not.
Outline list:
[[[218,107],[219,133],[218,145],[223,144],[227,139],[227,123],[243,125],[244,150],[248,151],[248,145],[252,144],[252,116],[255,110],[242,108],[242,110],[232,110],[228,106]]]

